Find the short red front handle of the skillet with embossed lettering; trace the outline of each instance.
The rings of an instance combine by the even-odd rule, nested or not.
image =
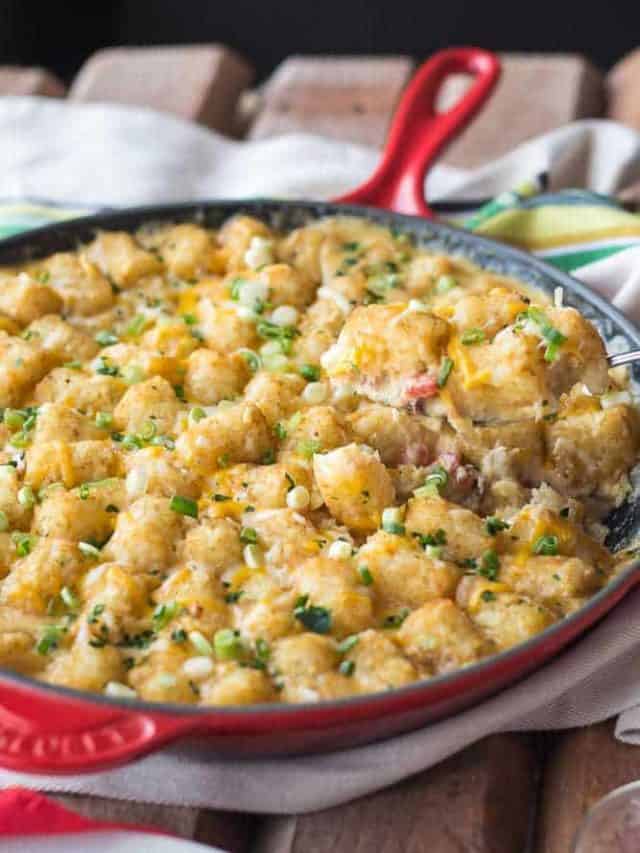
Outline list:
[[[0,684],[0,767],[23,773],[108,770],[192,732],[195,717]]]

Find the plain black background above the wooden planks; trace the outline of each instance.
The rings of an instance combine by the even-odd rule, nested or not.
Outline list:
[[[261,78],[292,53],[420,59],[470,43],[578,52],[607,68],[640,46],[640,0],[0,0],[0,63],[67,79],[99,47],[207,41],[240,50]]]

